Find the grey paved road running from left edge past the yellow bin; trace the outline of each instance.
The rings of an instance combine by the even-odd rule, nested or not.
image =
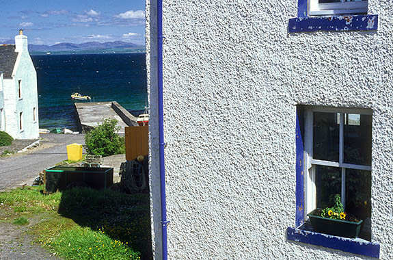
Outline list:
[[[0,157],[0,190],[15,187],[32,180],[45,168],[67,159],[68,144],[84,144],[84,136],[45,134],[41,135],[41,146],[27,153]]]

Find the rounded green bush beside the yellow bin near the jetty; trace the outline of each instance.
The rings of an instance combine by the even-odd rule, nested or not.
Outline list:
[[[124,153],[124,138],[118,135],[118,120],[104,118],[98,127],[85,135],[85,148],[90,155],[117,155]]]

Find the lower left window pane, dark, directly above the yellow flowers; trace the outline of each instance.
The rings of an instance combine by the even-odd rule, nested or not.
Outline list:
[[[334,195],[341,194],[341,168],[314,166],[316,177],[316,207],[334,205]]]

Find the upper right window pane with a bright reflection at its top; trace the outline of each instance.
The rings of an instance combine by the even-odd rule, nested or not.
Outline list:
[[[345,163],[371,166],[371,120],[371,115],[345,114]]]

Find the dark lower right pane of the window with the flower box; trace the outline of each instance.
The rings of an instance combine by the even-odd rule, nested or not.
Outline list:
[[[371,218],[371,172],[345,169],[345,211],[362,220]]]

